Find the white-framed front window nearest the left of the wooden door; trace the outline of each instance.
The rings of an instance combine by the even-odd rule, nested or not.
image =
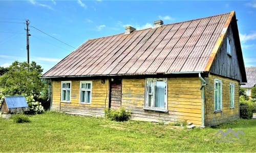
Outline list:
[[[81,81],[80,82],[80,103],[91,104],[92,101],[92,82]]]

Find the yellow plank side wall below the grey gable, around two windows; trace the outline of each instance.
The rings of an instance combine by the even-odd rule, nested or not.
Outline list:
[[[222,81],[222,111],[215,113],[214,110],[214,79]],[[239,118],[239,82],[219,75],[209,74],[205,78],[205,125],[214,126]],[[234,108],[230,109],[229,84],[234,84]]]

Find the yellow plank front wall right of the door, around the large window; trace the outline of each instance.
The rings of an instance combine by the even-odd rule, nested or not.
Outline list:
[[[201,125],[201,81],[195,78],[168,78],[168,112],[144,110],[145,79],[122,80],[122,106],[132,119],[156,122],[187,120]]]

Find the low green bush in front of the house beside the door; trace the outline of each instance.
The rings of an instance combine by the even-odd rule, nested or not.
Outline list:
[[[125,120],[129,120],[129,118],[131,117],[131,113],[125,111],[123,107],[120,107],[118,110],[105,109],[104,111],[105,111],[105,117],[110,120],[125,121]]]

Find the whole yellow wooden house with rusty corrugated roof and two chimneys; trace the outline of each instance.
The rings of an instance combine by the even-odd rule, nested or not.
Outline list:
[[[198,126],[238,119],[246,82],[234,11],[88,40],[42,77],[51,110],[104,116],[124,107],[134,120]]]

